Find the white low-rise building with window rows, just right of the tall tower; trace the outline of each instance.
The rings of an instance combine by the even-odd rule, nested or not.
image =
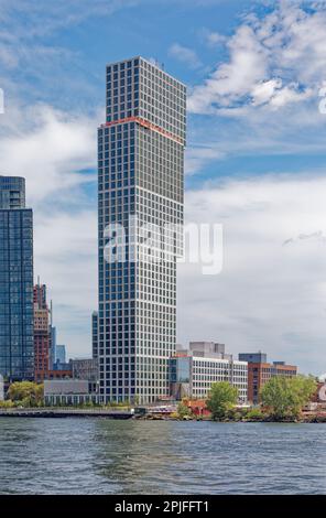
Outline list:
[[[226,355],[221,344],[191,343],[189,349],[180,349],[170,359],[171,395],[177,400],[207,398],[211,385],[219,381],[236,387],[239,403],[247,402],[248,364]]]

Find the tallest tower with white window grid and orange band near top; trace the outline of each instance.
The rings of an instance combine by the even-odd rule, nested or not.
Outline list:
[[[164,255],[160,229],[183,224],[186,88],[142,57],[113,63],[106,115],[98,130],[100,398],[153,402],[169,396],[176,346],[182,240],[169,234]],[[112,225],[126,230],[123,249],[119,230],[106,230]]]

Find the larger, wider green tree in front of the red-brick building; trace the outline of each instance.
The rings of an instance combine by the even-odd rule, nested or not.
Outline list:
[[[296,419],[316,389],[312,376],[274,376],[263,386],[261,402],[275,420]]]

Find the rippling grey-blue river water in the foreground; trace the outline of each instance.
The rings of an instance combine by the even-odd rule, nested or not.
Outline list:
[[[326,424],[0,418],[0,494],[326,494]]]

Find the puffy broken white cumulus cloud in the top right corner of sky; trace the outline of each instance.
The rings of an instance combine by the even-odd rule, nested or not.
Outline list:
[[[305,9],[305,2],[283,0],[262,17],[251,13],[227,41],[228,61],[193,89],[189,110],[278,109],[308,99],[324,79],[325,37],[325,3]]]

